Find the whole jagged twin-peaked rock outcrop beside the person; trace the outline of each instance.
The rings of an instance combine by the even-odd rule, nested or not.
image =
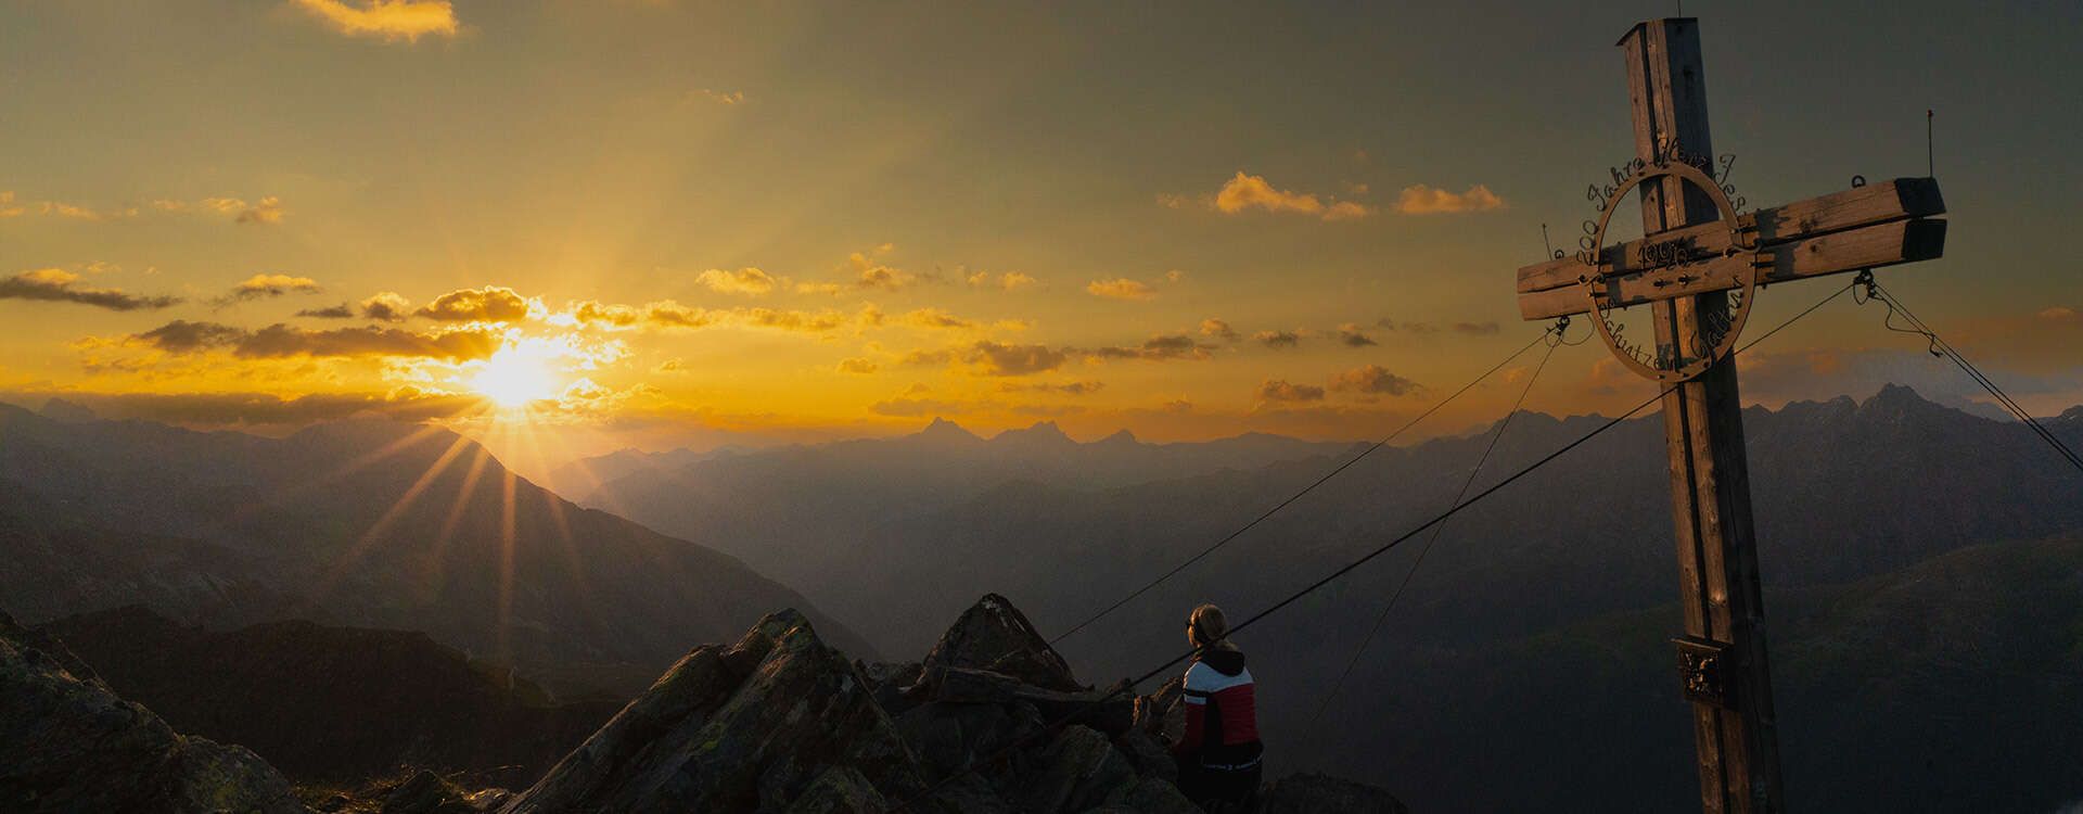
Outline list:
[[[1000,595],[908,664],[848,662],[779,612],[681,658],[502,812],[1194,814],[1154,735],[1175,699],[1079,685]],[[1400,810],[1314,777],[1281,781],[1266,804]]]

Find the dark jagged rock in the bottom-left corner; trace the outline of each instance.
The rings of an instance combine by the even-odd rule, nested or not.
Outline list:
[[[79,670],[79,672],[73,672]],[[0,614],[0,810],[304,812],[273,766],[181,737]]]

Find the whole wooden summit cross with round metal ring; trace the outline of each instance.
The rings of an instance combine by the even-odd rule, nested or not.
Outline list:
[[[1519,310],[1529,321],[1591,314],[1623,364],[1668,387],[1664,441],[1685,610],[1675,643],[1693,708],[1700,802],[1706,812],[1781,812],[1750,466],[1729,356],[1766,283],[1937,258],[1946,221],[1927,217],[1946,204],[1929,177],[1854,179],[1846,192],[1743,214],[1727,183],[1735,156],[1714,158],[1708,139],[1698,21],[1635,25],[1621,48],[1635,158],[1585,194],[1598,219],[1585,221],[1579,252],[1519,269]],[[1612,210],[1633,189],[1643,237],[1604,246]],[[1637,304],[1650,306],[1654,352],[1610,321]]]

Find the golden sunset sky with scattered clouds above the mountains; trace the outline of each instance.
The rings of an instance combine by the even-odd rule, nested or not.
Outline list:
[[[1675,10],[1127,6],[8,2],[0,400],[460,412],[554,429],[546,462],[931,416],[1379,437],[1539,331],[1512,271],[1629,158],[1612,44]],[[1910,6],[1687,2],[1714,148],[1777,204],[1925,175],[1935,108],[1946,260],[1883,281],[2058,412],[2083,12]],[[1800,323],[1746,398],[1977,400],[1879,323]],[[1591,341],[1529,408],[1648,393]]]

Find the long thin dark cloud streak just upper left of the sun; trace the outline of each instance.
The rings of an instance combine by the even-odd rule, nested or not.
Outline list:
[[[450,362],[487,358],[504,344],[498,333],[490,331],[417,333],[392,327],[308,331],[283,323],[260,331],[246,331],[233,325],[190,323],[183,319],[135,333],[131,339],[169,354],[231,348],[231,354],[240,358],[404,356]]]

